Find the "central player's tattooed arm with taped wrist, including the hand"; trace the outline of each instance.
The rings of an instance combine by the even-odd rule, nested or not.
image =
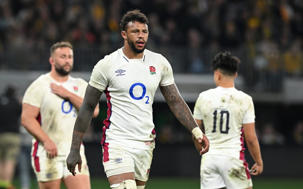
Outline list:
[[[186,129],[192,132],[195,135],[195,138],[198,140],[202,148],[200,155],[208,152],[209,140],[201,132],[198,127],[197,122],[194,119],[194,116],[191,113],[191,110],[181,97],[178,88],[175,83],[168,86],[159,86],[162,95],[164,96],[166,103],[168,104],[171,111],[175,114],[179,122],[184,125]]]

